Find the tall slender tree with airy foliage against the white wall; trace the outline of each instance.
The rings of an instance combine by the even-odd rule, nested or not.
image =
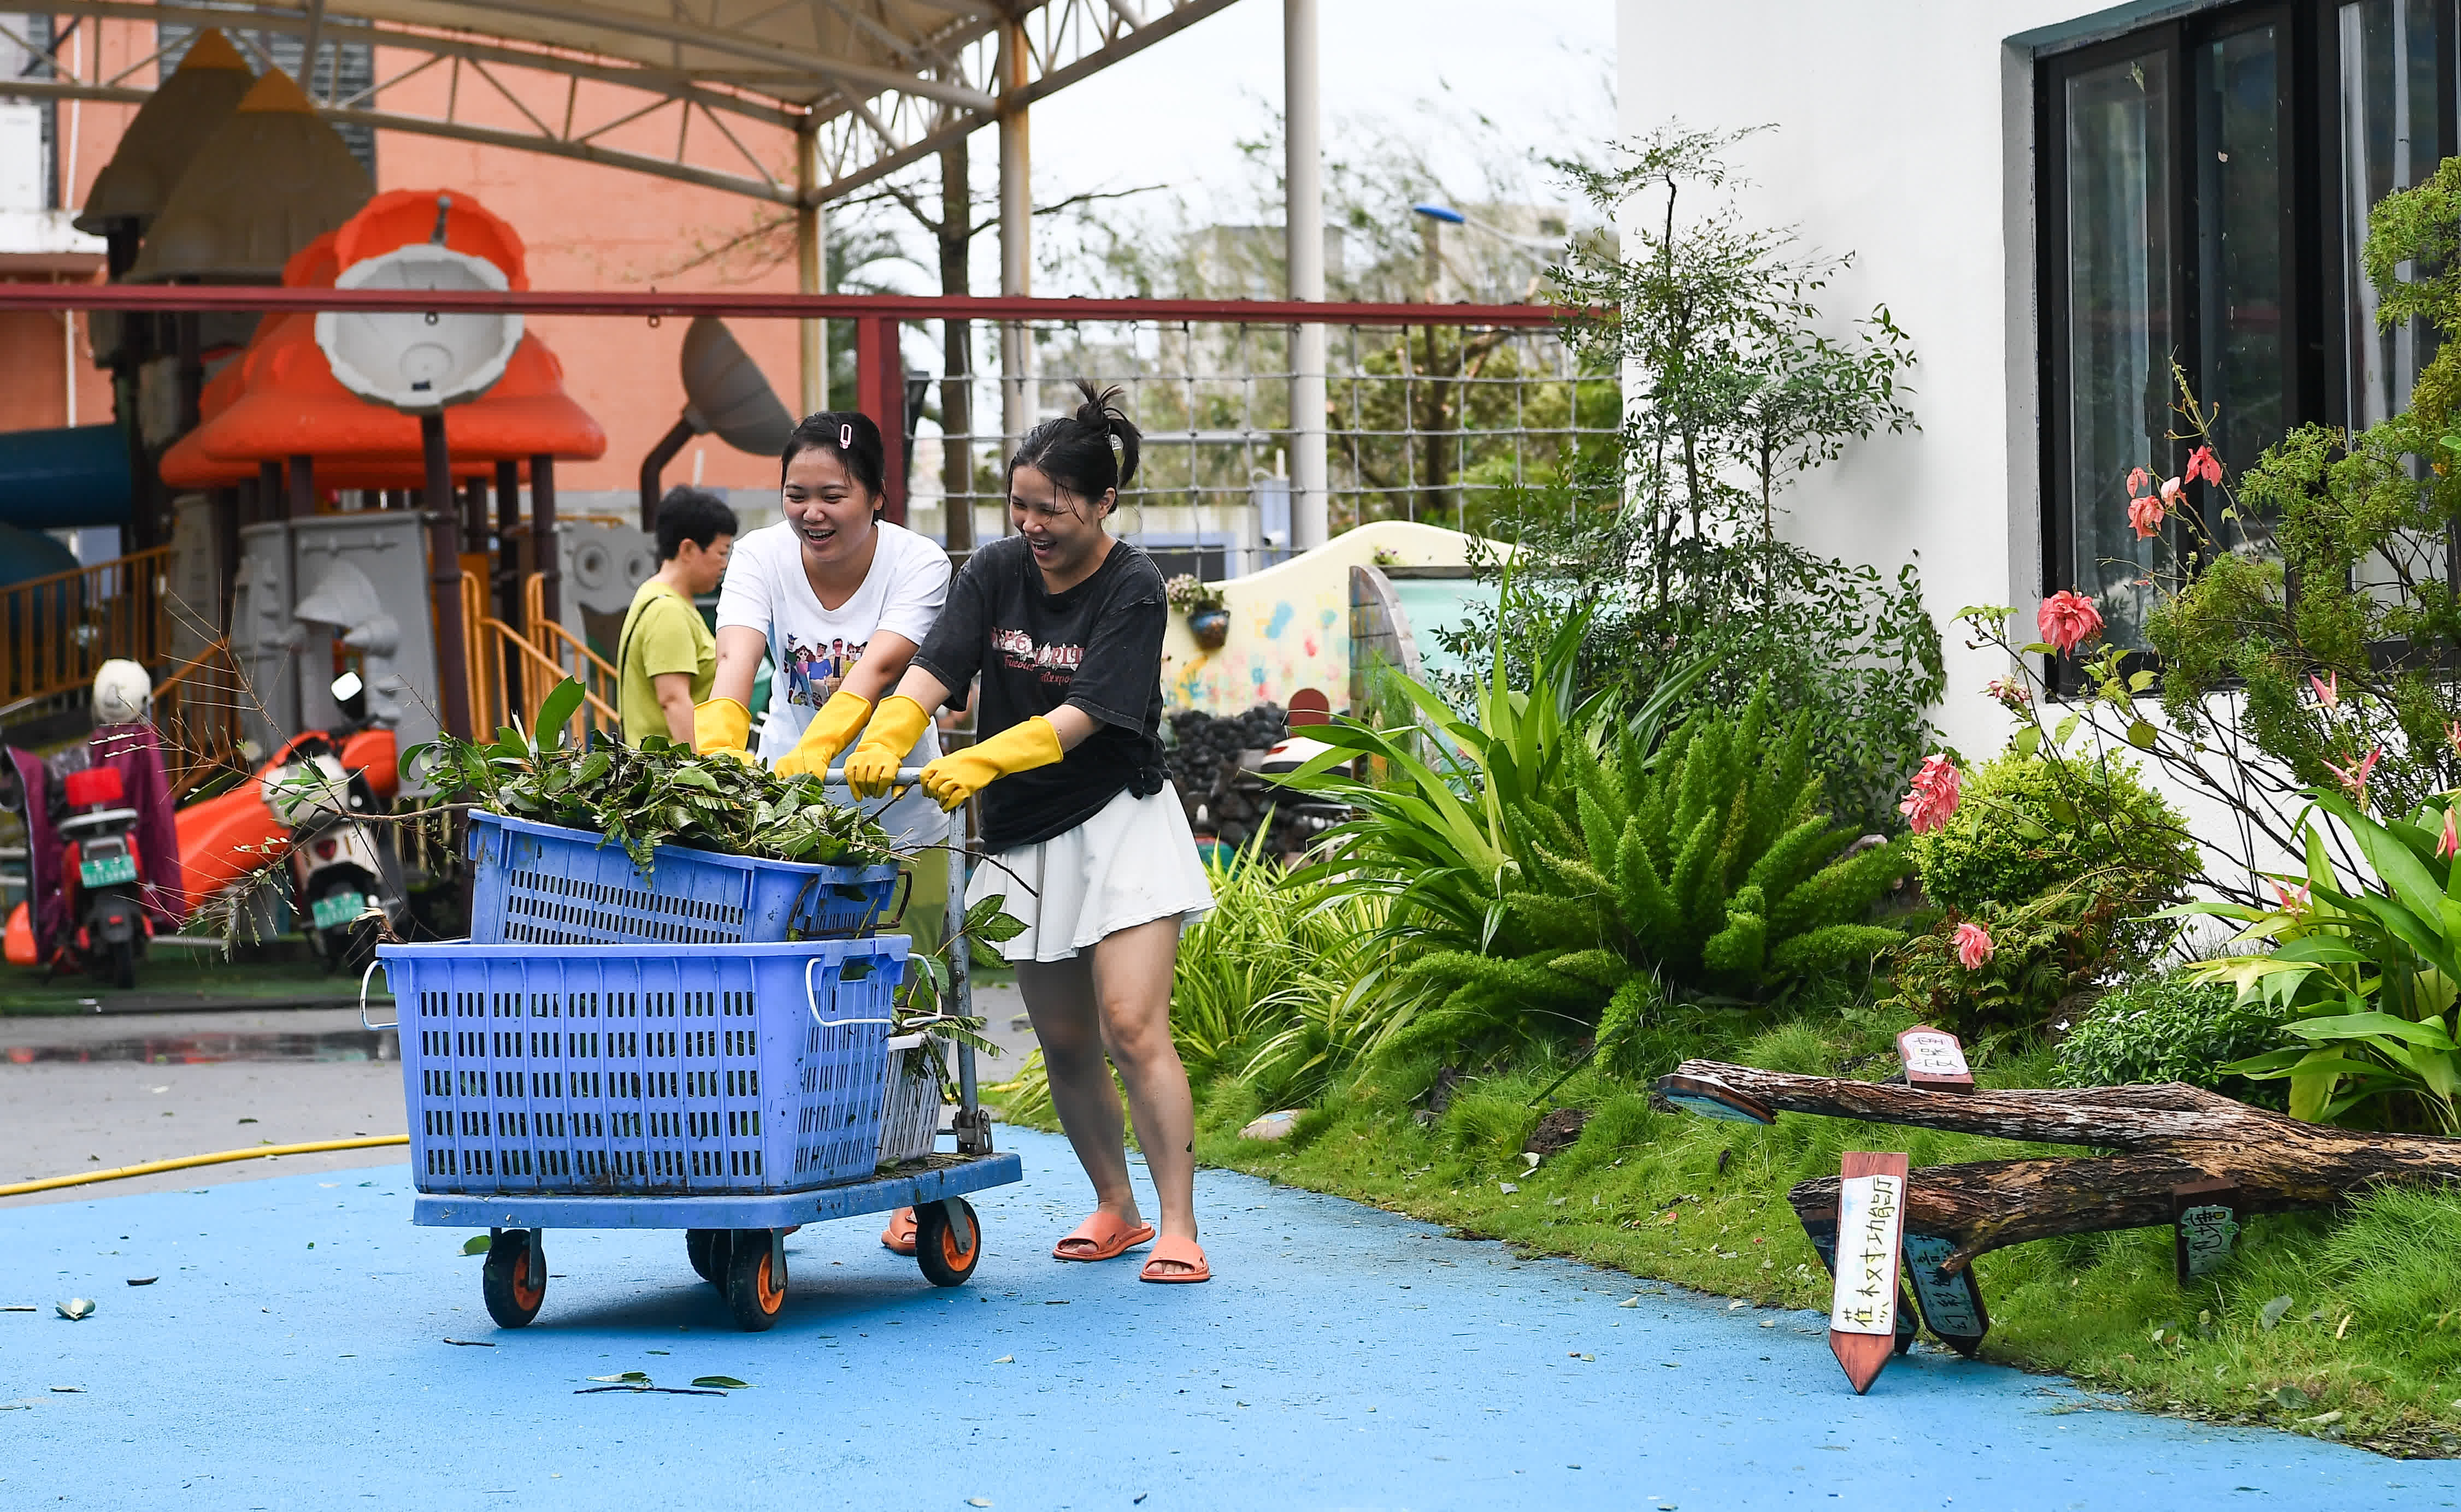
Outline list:
[[[1637,386],[1612,457],[1514,492],[1504,534],[1528,580],[1600,605],[1585,686],[1641,696],[1708,649],[1696,698],[1740,708],[1767,679],[1814,733],[1829,809],[1885,829],[1944,691],[1939,629],[1912,563],[1806,551],[1779,531],[1779,502],[1851,443],[1915,428],[1915,352],[1885,305],[1824,327],[1819,295],[1846,258],[1809,256],[1718,194],[1737,182],[1725,150],[1740,135],[1664,128],[1612,167],[1558,162],[1600,211],[1646,211],[1627,246],[1575,243],[1555,270],[1590,312],[1565,327],[1582,366]]]

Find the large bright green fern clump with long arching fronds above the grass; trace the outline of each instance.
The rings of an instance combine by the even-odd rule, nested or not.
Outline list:
[[[1624,1045],[1666,998],[1760,998],[1902,942],[1863,917],[1912,870],[1907,843],[1846,853],[1809,728],[1772,728],[1767,683],[1661,742],[1683,686],[1622,718],[1575,703],[1585,620],[1536,637],[1528,693],[1494,674],[1472,720],[1395,679],[1415,728],[1329,725],[1334,750],[1290,777],[1356,814],[1307,880],[1381,892],[1408,942],[1393,1045]],[[1334,770],[1351,757],[1366,777]]]

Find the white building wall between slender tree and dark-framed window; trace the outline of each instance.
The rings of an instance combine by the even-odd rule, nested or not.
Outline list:
[[[2033,329],[2033,66],[2190,5],[2092,17],[2075,0],[1619,0],[1624,135],[1772,130],[1735,145],[1757,224],[1853,253],[1821,295],[1843,322],[1888,305],[1915,339],[1917,435],[1880,435],[1797,484],[1784,531],[1895,570],[1920,553],[1949,652],[1934,715],[1974,757],[2006,740],[1981,696],[2003,671],[1952,615],[2043,597]],[[2052,585],[2060,588],[2060,585]]]

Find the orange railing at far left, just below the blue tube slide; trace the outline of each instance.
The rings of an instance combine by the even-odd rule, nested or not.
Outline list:
[[[0,713],[84,693],[103,661],[160,666],[170,546],[0,588]]]

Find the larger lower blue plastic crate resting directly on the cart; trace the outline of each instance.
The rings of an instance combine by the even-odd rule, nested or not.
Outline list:
[[[792,1192],[871,1175],[903,934],[389,944],[421,1192]]]

